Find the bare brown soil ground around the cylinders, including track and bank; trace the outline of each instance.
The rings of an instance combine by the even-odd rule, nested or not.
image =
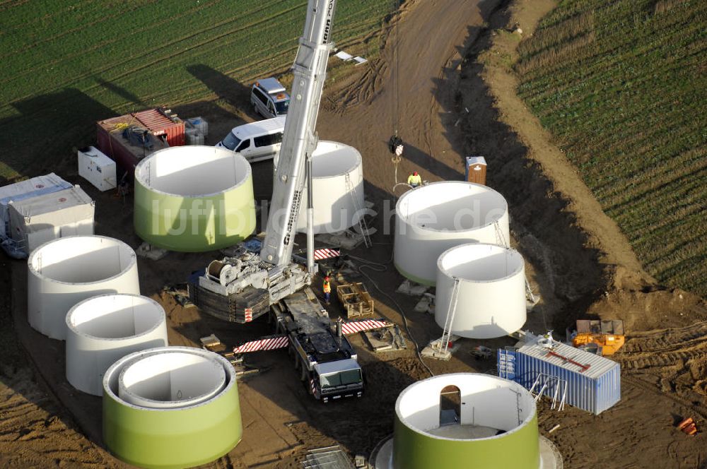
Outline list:
[[[351,66],[349,75],[342,74],[327,89],[320,137],[361,151],[366,196],[382,214],[386,205],[395,205],[395,166],[385,145],[395,129],[406,143],[398,181],[412,170],[429,181],[461,179],[462,156],[486,156],[489,185],[508,199],[513,243],[542,296],[528,328],[564,331],[578,317],[594,314],[624,319],[629,331],[617,356],[623,369],[618,405],[598,417],[573,408],[539,408],[541,430],[563,453],[566,467],[706,468],[704,433],[686,437],[674,429],[684,416],[707,428],[705,305],[688,292],[665,290],[645,275],[613,222],[513,93],[515,82],[507,66],[513,60],[513,42],[497,30],[518,21],[530,34],[551,6],[549,0],[519,1],[510,7],[493,0],[406,1],[392,28],[381,32],[385,45],[380,60],[363,68]],[[232,126],[255,116],[243,112],[249,109],[243,85],[228,80],[209,85],[218,100],[177,111],[209,121],[207,143],[215,143]],[[73,158],[57,172],[81,182]],[[254,165],[254,174],[257,198],[267,198],[271,164]],[[97,201],[96,232],[137,247],[132,199],[122,201],[82,185]],[[383,233],[385,221],[385,216],[378,219],[374,247],[354,254],[378,262],[391,258],[392,236]],[[264,321],[233,325],[184,309],[162,291],[216,256],[170,253],[160,261],[139,260],[143,294],[158,299],[167,311],[170,344],[197,345],[199,337],[210,333],[235,344],[270,332]],[[122,467],[101,446],[100,398],[71,388],[64,378],[63,343],[28,326],[25,269],[22,262],[4,261],[0,279],[11,285],[1,305],[0,464]],[[368,272],[375,286],[412,311],[416,300],[394,293],[403,279],[391,263],[385,272]],[[395,305],[373,283],[368,287],[378,313],[402,323]],[[337,304],[330,309],[332,316],[340,312]],[[419,343],[440,335],[431,316],[407,316],[411,336]],[[484,341],[493,348],[511,343],[510,338]],[[351,453],[369,453],[392,432],[398,393],[428,372],[411,350],[373,355],[358,337],[354,345],[366,369],[367,393],[333,405],[308,396],[286,352],[253,354],[251,364],[263,372],[240,382],[243,441],[211,467],[297,468],[307,449],[335,443]],[[450,362],[427,363],[436,374],[493,369],[494,360],[475,360],[469,354],[473,345],[477,343],[466,341]],[[547,434],[556,424],[559,429]]]

